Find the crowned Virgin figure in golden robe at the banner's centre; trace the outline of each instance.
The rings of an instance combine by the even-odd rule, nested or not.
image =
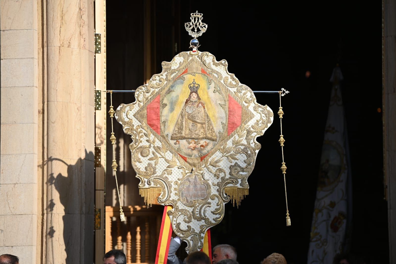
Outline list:
[[[190,94],[177,118],[171,140],[206,139],[217,141],[212,121],[205,109],[205,103],[199,97],[199,87],[200,85],[195,82],[195,79],[188,85]]]

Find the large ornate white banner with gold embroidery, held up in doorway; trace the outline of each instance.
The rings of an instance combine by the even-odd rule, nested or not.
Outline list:
[[[219,224],[224,205],[248,194],[261,145],[257,136],[273,113],[228,73],[227,61],[208,52],[181,52],[162,73],[135,92],[136,101],[115,114],[131,135],[131,162],[139,192],[150,205],[173,207],[173,231],[186,251],[202,248],[205,232]]]

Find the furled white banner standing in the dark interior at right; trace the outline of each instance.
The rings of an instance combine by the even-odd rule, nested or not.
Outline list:
[[[331,98],[312,216],[308,262],[333,263],[347,244],[352,205],[348,142],[340,81],[340,67],[333,69]]]

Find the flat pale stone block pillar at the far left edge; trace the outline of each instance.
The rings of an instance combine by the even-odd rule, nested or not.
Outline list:
[[[0,254],[36,262],[37,2],[0,1]]]

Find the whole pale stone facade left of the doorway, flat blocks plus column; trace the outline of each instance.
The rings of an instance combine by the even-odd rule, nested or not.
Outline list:
[[[0,254],[92,263],[94,9],[0,0]]]

